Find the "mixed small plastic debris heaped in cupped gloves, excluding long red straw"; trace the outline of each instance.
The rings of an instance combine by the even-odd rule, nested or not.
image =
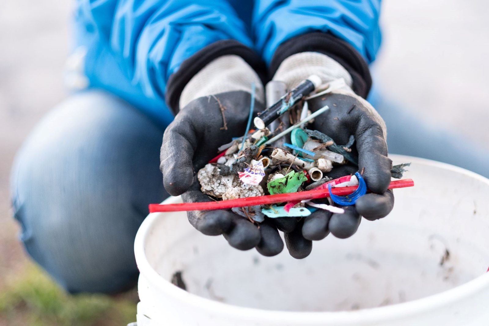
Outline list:
[[[232,209],[236,214],[258,223],[265,216],[306,217],[318,209],[341,214],[344,210],[337,206],[354,205],[367,192],[361,174],[345,175],[334,180],[324,174],[342,164],[358,165],[358,155],[352,150],[355,136],[351,135],[347,144],[338,145],[330,136],[305,128],[312,119],[329,109],[325,106],[311,113],[303,101],[305,96],[318,88],[318,78],[310,76],[261,112],[254,120],[257,130],[248,132],[254,103],[252,93],[245,135],[222,145],[218,149],[219,154],[200,169],[197,177],[202,192],[216,199],[227,200],[329,189],[331,195],[328,198]],[[287,119],[282,119],[286,116]],[[402,177],[406,166],[409,163],[393,167],[392,176]],[[358,187],[348,196],[331,193],[333,187],[351,186]]]

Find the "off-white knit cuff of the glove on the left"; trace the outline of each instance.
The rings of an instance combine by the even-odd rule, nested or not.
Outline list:
[[[212,94],[235,90],[251,93],[252,83],[255,83],[256,100],[265,103],[264,87],[255,70],[240,56],[225,55],[214,59],[192,77],[181,92],[179,107]]]

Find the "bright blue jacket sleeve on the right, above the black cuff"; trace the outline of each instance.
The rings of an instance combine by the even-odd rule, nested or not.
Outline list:
[[[380,0],[257,0],[252,27],[256,48],[269,64],[281,43],[327,32],[371,63],[380,46],[379,10]]]

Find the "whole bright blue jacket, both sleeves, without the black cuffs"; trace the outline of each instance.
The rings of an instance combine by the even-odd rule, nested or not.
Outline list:
[[[269,64],[298,35],[329,32],[370,63],[380,45],[380,0],[78,0],[75,46],[89,86],[125,99],[161,125],[172,73],[203,47],[233,39]]]

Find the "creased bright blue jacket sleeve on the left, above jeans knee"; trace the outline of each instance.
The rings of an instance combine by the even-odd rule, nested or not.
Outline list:
[[[169,77],[186,59],[220,40],[252,46],[226,0],[78,0],[76,43],[85,74],[162,122]],[[163,121],[164,120],[164,121]]]

